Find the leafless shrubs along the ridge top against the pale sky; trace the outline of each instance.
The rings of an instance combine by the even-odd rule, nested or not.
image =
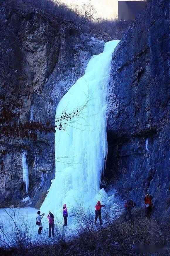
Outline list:
[[[81,9],[67,6],[57,0],[29,0],[28,6],[32,9],[40,9],[61,21],[65,19],[76,22],[81,25],[84,33],[101,31],[121,38],[129,25],[128,21],[120,21],[117,17],[112,20],[96,18],[96,9],[90,2],[83,4]]]

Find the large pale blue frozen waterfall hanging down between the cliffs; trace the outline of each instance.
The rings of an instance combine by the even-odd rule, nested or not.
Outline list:
[[[55,133],[55,179],[40,208],[42,212],[51,210],[61,215],[64,203],[67,208],[77,207],[77,202],[89,207],[100,198],[97,193],[107,156],[107,87],[118,42],[105,43],[103,53],[91,57],[84,76],[57,106],[56,118],[83,109],[68,119],[65,131]]]

